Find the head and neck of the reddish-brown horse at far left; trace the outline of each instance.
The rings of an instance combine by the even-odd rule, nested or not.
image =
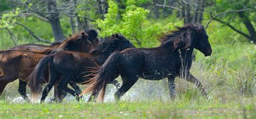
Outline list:
[[[93,48],[92,43],[88,40],[87,33],[84,31],[77,32],[70,36],[60,45],[60,47],[65,50],[80,51],[83,53],[89,53]]]

